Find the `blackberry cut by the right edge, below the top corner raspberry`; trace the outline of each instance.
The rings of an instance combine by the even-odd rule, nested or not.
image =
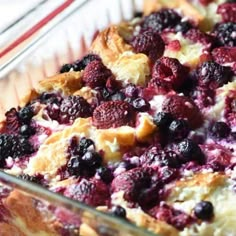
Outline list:
[[[219,23],[215,26],[214,33],[220,46],[236,46],[236,23]]]

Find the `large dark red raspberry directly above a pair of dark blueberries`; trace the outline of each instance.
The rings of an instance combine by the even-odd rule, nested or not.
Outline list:
[[[162,104],[162,110],[171,113],[176,119],[187,119],[191,128],[197,128],[202,123],[199,108],[193,100],[185,96],[168,96]]]

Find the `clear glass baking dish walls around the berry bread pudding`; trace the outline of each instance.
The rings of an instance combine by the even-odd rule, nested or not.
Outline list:
[[[65,1],[68,2],[68,1]],[[97,30],[131,19],[142,1],[71,1],[54,22],[49,21],[16,54],[1,64],[0,119],[39,80],[58,72],[64,63],[81,57]],[[0,235],[153,235],[128,221],[37,184],[0,172]],[[20,231],[19,231],[20,229]]]

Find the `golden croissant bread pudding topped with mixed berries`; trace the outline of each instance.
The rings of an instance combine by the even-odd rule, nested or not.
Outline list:
[[[6,112],[0,166],[157,235],[236,235],[235,74],[234,0],[147,0]],[[19,197],[1,235],[62,235]]]

